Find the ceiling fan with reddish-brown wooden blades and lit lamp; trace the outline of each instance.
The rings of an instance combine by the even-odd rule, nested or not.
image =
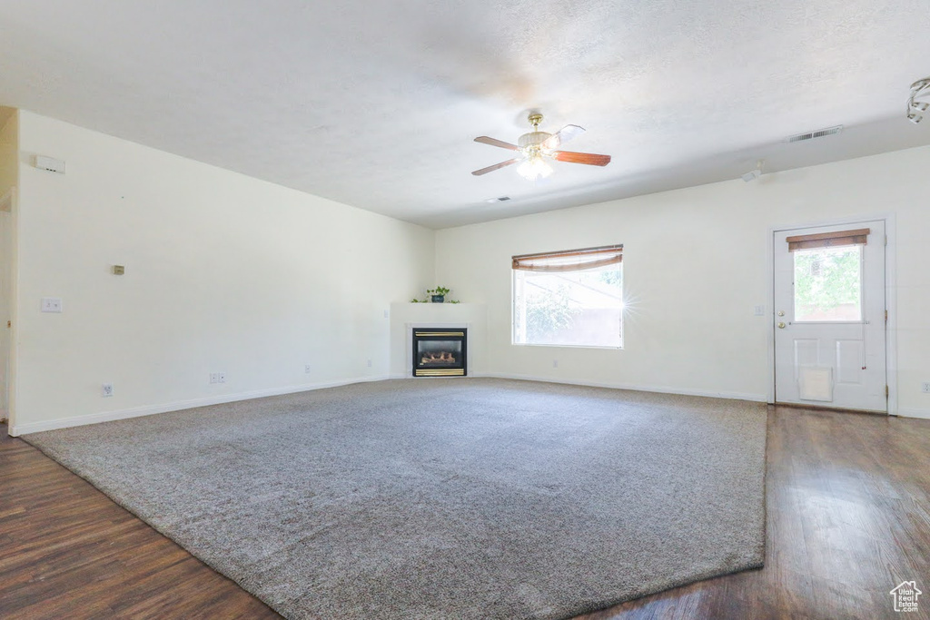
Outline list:
[[[530,112],[527,117],[530,125],[533,125],[533,131],[524,134],[517,140],[517,144],[504,142],[487,136],[475,138],[475,142],[490,144],[501,149],[519,152],[519,156],[509,159],[500,164],[489,165],[481,170],[475,170],[472,175],[480,177],[488,172],[493,172],[507,165],[522,162],[517,168],[520,176],[534,180],[537,178],[546,178],[552,174],[552,166],[546,162],[546,159],[554,159],[558,162],[570,162],[571,164],[587,165],[607,165],[610,164],[610,155],[595,155],[590,152],[572,152],[558,151],[557,149],[563,142],[584,133],[584,128],[578,125],[565,125],[554,134],[539,131],[539,124],[542,123],[542,114]]]

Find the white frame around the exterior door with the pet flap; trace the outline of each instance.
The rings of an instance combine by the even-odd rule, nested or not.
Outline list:
[[[884,324],[884,372],[888,385],[888,415],[897,416],[897,220],[894,212],[768,227],[765,242],[765,307],[768,312],[765,316],[770,323],[765,330],[765,340],[768,347],[769,404],[775,403],[775,233],[876,220],[884,221],[884,235],[887,239],[884,248],[884,307],[888,310],[888,321]]]

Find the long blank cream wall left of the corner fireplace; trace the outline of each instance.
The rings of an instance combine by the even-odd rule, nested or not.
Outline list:
[[[384,312],[434,284],[432,231],[31,112],[18,234],[16,432],[388,376]]]

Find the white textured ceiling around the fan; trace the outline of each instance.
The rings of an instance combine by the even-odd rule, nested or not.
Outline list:
[[[930,143],[930,0],[4,0],[0,105],[434,228]],[[525,111],[605,168],[505,168]],[[840,136],[790,134],[846,125]],[[54,154],[54,153],[50,153]],[[508,195],[512,201],[487,204]]]

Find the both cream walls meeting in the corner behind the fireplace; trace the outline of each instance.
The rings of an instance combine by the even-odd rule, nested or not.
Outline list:
[[[67,174],[35,169],[35,153]],[[384,311],[437,282],[486,304],[483,373],[762,400],[771,325],[752,307],[769,227],[884,213],[897,218],[893,389],[900,413],[930,416],[930,148],[437,233],[30,112],[19,161],[20,432],[389,376]],[[510,344],[513,254],[614,243],[626,349]],[[64,312],[40,313],[41,297]],[[227,383],[209,385],[219,371]]]

